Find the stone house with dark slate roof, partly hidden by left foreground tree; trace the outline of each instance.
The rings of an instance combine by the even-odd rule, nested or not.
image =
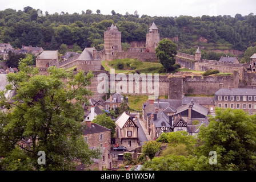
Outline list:
[[[90,121],[85,122],[86,129],[83,129],[83,138],[89,147],[93,150],[99,149],[101,151],[101,158],[93,159],[94,164],[90,166],[93,170],[97,168],[102,171],[103,168],[112,168],[112,155],[111,155],[111,130],[92,123]]]

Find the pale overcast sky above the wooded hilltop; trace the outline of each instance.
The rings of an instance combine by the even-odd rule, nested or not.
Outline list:
[[[90,9],[93,13],[96,10],[101,10],[102,14],[111,14],[112,10],[115,13],[125,15],[126,12],[134,14],[138,11],[141,16],[143,14],[150,16],[218,16],[231,15],[239,13],[248,15],[250,13],[256,14],[255,0],[7,0],[1,2],[0,10],[8,8],[15,10],[23,10],[23,7],[31,6],[34,9],[41,9],[43,12],[48,11],[49,14],[55,12],[73,14],[81,14],[82,10]]]

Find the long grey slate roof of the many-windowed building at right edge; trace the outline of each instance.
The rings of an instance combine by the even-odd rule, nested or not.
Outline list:
[[[230,88],[219,89],[215,92],[215,95],[219,96],[256,96],[256,89],[244,89],[244,88]]]

